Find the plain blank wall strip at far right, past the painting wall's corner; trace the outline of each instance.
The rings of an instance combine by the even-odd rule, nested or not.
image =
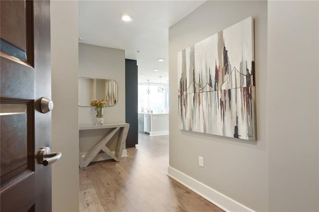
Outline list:
[[[319,211],[318,20],[318,1],[268,1],[269,210],[274,212]]]

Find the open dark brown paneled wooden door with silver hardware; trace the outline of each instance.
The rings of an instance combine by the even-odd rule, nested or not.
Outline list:
[[[51,146],[50,2],[0,1],[1,212],[50,212],[51,167],[37,163]]]

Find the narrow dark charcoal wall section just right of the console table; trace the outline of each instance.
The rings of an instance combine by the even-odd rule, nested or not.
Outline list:
[[[126,147],[138,144],[138,66],[136,60],[125,59],[125,120],[130,124]]]

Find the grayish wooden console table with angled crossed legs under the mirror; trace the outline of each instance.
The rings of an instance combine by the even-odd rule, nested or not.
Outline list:
[[[79,167],[84,168],[94,159],[94,157],[102,150],[111,158],[116,161],[120,161],[123,149],[125,147],[126,137],[128,135],[130,124],[129,123],[115,123],[115,124],[104,124],[101,126],[97,125],[80,125],[79,130],[91,130],[91,129],[110,129],[107,135],[102,138],[95,146],[93,146],[89,152],[83,157],[81,149],[79,147]],[[106,144],[110,141],[113,135],[119,131],[119,138],[117,140],[115,153],[113,153]]]

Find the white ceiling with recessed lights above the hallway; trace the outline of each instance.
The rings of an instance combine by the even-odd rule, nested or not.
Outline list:
[[[80,42],[125,50],[137,60],[139,84],[168,83],[168,28],[204,0],[179,1],[79,1]],[[121,17],[131,15],[133,21]],[[140,51],[138,53],[137,51]],[[163,58],[163,62],[158,59]],[[153,71],[159,69],[159,71]],[[144,76],[141,76],[144,75]]]

